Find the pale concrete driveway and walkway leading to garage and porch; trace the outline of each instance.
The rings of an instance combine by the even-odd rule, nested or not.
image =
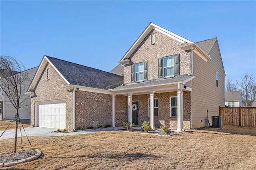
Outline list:
[[[28,127],[25,128],[26,134],[28,136],[66,136],[66,135],[75,135],[75,134],[88,134],[100,131],[109,131],[109,130],[121,130],[124,129],[123,127],[116,127],[116,128],[103,128],[103,129],[94,129],[94,130],[84,130],[84,131],[75,131],[75,132],[65,132],[65,133],[49,133],[56,131],[56,128],[44,128],[44,127]],[[4,130],[0,130],[0,135],[4,132]],[[22,137],[26,136],[24,130],[21,130]],[[18,137],[20,135],[20,129],[18,129]],[[4,134],[0,137],[0,140],[3,139],[10,139],[15,137],[15,129],[6,130]]]

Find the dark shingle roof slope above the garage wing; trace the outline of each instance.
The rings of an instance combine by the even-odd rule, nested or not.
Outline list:
[[[123,77],[120,75],[108,73],[106,71],[71,63],[49,56],[46,57],[72,85],[80,85],[107,90],[122,85],[124,81]]]

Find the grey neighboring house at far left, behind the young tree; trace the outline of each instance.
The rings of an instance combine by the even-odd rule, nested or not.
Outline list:
[[[27,89],[36,73],[38,67],[34,67],[32,69],[26,70],[28,73],[29,80],[23,83],[24,87]],[[19,74],[19,72],[17,72]],[[1,85],[0,85],[1,87]],[[26,90],[25,90],[26,91]],[[26,107],[22,107],[19,109],[20,119],[30,119],[30,97],[28,95],[24,95],[27,99],[24,101],[24,105],[28,105]],[[4,94],[3,90],[0,88],[0,113],[2,114],[0,118],[2,119],[15,119],[16,109]]]

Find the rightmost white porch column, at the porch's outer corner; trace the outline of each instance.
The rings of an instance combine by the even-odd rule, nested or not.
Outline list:
[[[177,90],[177,131],[181,132],[182,130],[182,89],[180,89],[180,83],[178,83]]]

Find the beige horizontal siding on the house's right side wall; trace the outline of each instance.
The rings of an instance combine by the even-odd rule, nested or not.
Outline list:
[[[211,116],[219,114],[219,106],[225,104],[225,73],[218,48],[214,43],[208,53],[211,60],[205,62],[194,54],[194,75],[192,79],[192,128],[205,127],[208,120],[212,125]],[[216,71],[218,72],[218,87],[216,87]]]

